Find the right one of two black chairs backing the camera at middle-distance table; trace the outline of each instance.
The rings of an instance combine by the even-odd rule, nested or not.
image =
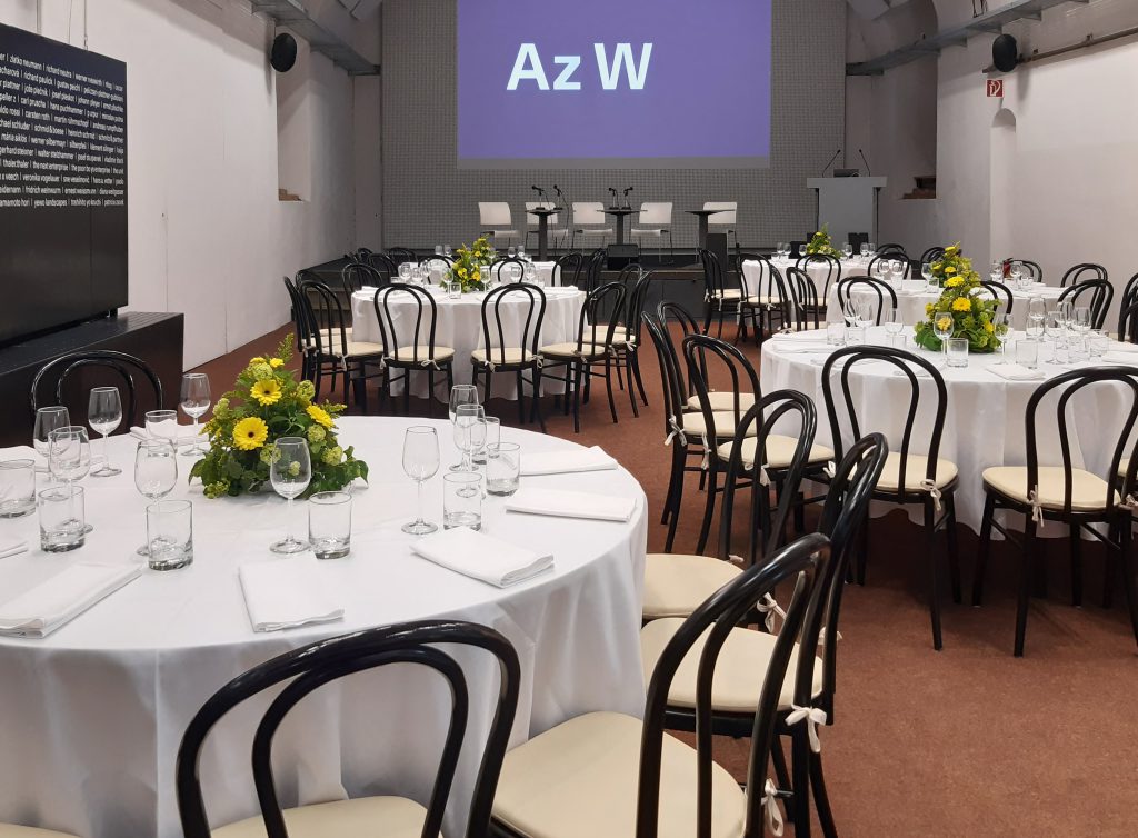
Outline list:
[[[514,302],[517,301],[517,302]],[[505,319],[503,320],[503,314]],[[494,391],[494,373],[514,373],[518,386],[518,421],[526,421],[523,385],[529,372],[529,384],[534,389],[530,421],[542,419],[542,356],[537,345],[542,339],[542,322],[545,320],[545,291],[528,282],[513,282],[489,291],[483,299],[483,348],[470,353],[473,364],[471,384],[478,387],[478,379],[486,376],[483,404],[490,400]],[[519,322],[520,329],[508,328],[506,323]]]

